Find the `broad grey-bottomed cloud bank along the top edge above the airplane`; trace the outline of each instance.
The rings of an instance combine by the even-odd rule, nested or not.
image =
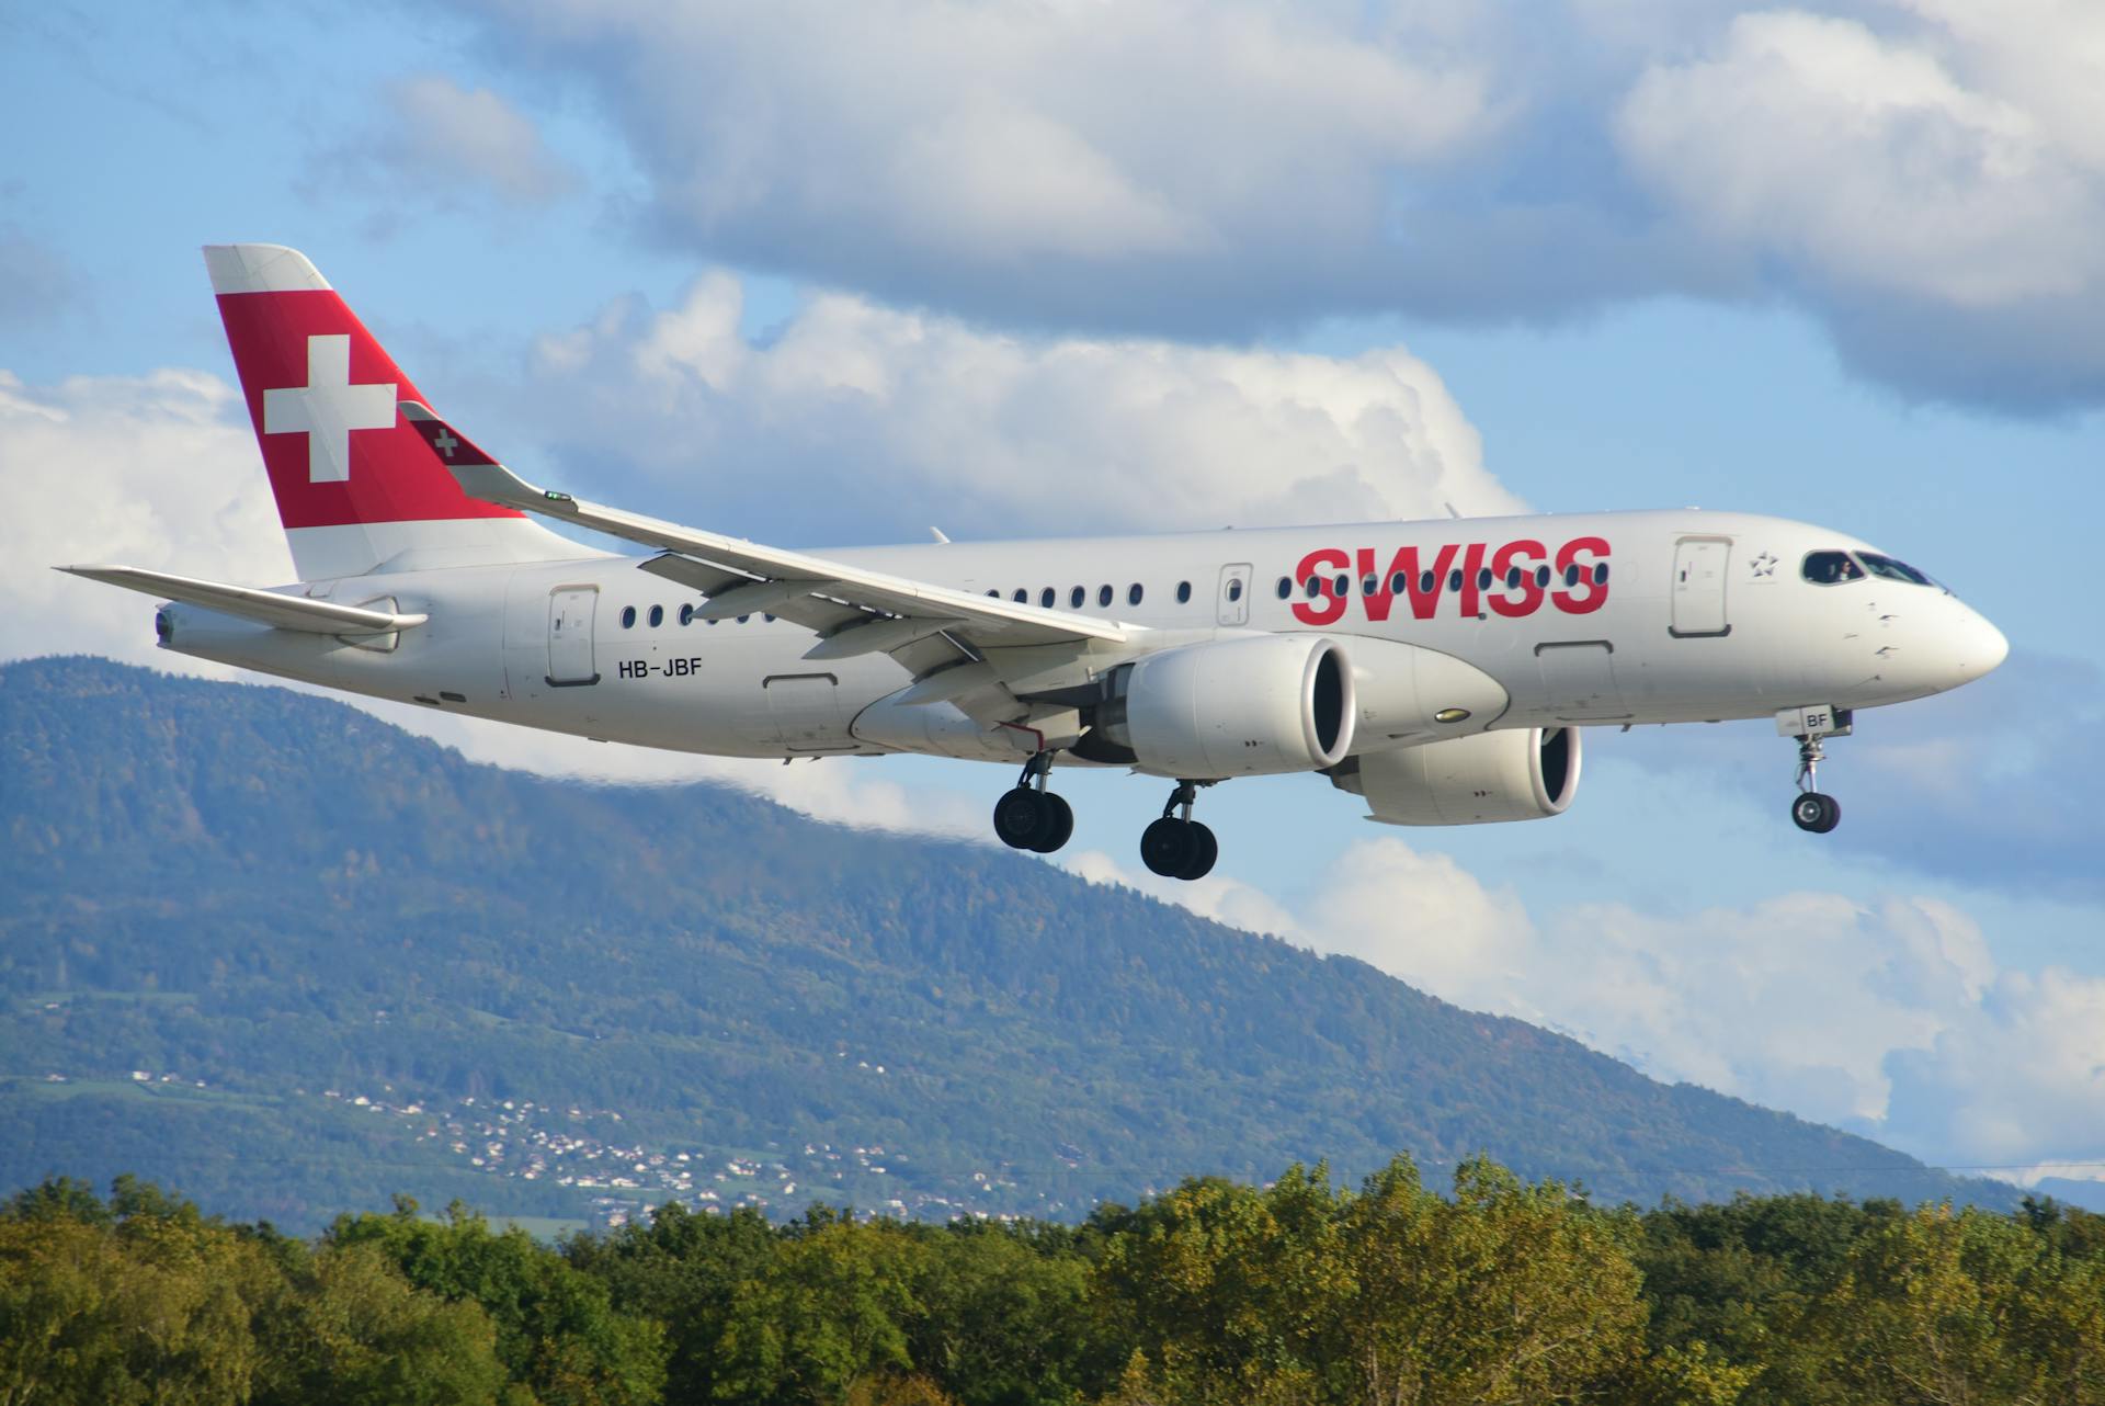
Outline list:
[[[2090,0],[457,0],[714,261],[1004,326],[1808,307],[1911,396],[2105,400]]]

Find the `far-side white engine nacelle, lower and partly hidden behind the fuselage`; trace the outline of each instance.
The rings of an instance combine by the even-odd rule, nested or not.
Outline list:
[[[1579,791],[1579,728],[1450,737],[1351,758],[1332,785],[1389,825],[1482,825],[1564,815]]]

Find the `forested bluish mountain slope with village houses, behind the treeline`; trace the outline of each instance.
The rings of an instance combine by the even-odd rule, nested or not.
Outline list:
[[[280,688],[6,665],[0,766],[0,1187],[1063,1217],[1482,1149],[1617,1200],[2014,1200],[1015,852],[478,766]]]

